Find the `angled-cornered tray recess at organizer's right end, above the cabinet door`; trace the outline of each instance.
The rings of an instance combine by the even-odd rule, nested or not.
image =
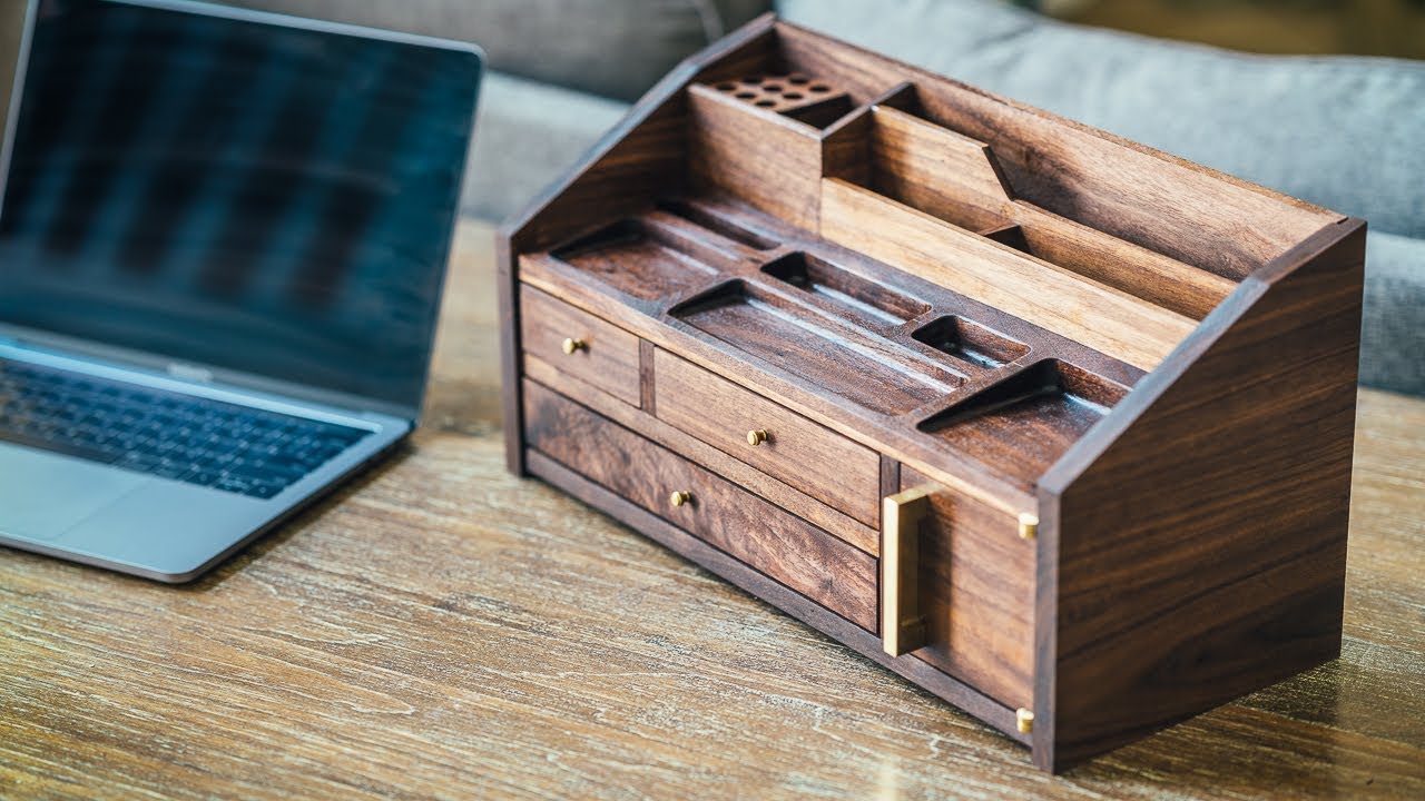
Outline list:
[[[1129,388],[1045,359],[919,425],[946,445],[1032,486]]]

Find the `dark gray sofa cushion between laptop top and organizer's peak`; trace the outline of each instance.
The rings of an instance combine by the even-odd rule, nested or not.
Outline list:
[[[222,1],[475,41],[500,71],[624,100],[771,7],[771,0]]]

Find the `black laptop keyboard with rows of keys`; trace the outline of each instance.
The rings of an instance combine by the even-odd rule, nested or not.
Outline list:
[[[0,440],[272,497],[370,432],[0,359]]]

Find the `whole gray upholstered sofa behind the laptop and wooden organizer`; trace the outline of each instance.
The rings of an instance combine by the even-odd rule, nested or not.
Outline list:
[[[469,38],[482,98],[466,211],[499,219],[680,57],[788,20],[1321,205],[1371,234],[1364,383],[1425,395],[1425,64],[1261,57],[1070,26],[998,0],[228,0]]]

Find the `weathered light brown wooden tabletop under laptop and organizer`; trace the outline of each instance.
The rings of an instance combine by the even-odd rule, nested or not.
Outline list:
[[[0,798],[1425,798],[1425,400],[1361,393],[1342,658],[1054,778],[507,476],[490,237],[338,497],[190,587],[0,549]]]

